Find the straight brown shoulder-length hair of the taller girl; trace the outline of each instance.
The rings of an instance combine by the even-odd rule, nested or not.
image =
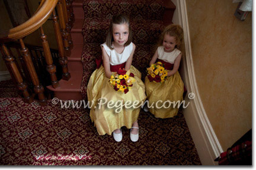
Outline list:
[[[111,47],[112,46],[112,42],[114,41],[113,38],[113,24],[128,24],[129,27],[129,37],[127,42],[124,44],[124,46],[127,46],[130,44],[130,42],[132,42],[132,28],[130,27],[130,22],[129,22],[129,18],[126,15],[123,14],[119,14],[119,15],[114,15],[110,24],[110,27],[108,29],[108,33],[107,33],[107,38],[106,38],[106,44],[107,46],[113,50],[114,48]]]

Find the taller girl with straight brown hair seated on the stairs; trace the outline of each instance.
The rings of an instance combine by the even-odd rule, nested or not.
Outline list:
[[[114,108],[108,108],[107,104],[98,106],[99,99],[107,99],[107,102],[123,101],[123,103],[143,102],[146,99],[145,85],[142,82],[140,72],[132,66],[135,44],[132,42],[132,30],[129,19],[125,15],[116,15],[110,24],[107,40],[101,44],[103,66],[92,73],[88,86],[88,101],[93,102],[90,117],[97,128],[99,135],[111,135],[114,140],[120,142],[122,139],[121,127],[126,126],[130,130],[130,139],[136,142],[139,139],[139,125],[137,117],[140,107],[122,107],[121,112],[116,113]],[[135,82],[131,89],[125,94],[116,91],[109,80],[113,72],[120,69],[135,75]]]

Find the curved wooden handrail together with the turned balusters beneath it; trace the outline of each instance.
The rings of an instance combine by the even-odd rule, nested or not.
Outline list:
[[[21,25],[18,25],[15,28],[9,30],[6,34],[0,34],[0,44],[1,44],[1,53],[3,54],[3,58],[5,63],[7,63],[7,68],[12,75],[12,79],[18,83],[18,89],[23,92],[24,100],[26,102],[31,102],[30,94],[27,91],[27,85],[24,83],[23,74],[21,73],[18,64],[15,61],[15,57],[12,57],[11,50],[7,49],[6,44],[10,41],[18,40],[20,41],[21,45],[21,54],[18,48],[16,48],[19,57],[21,58],[21,64],[23,66],[23,70],[26,76],[29,76],[31,80],[31,84],[33,84],[34,92],[38,95],[38,99],[40,104],[46,104],[46,97],[44,96],[44,87],[42,83],[40,83],[40,77],[43,75],[38,68],[40,64],[43,64],[41,61],[38,63],[33,63],[33,54],[29,52],[28,48],[25,46],[23,42],[23,37],[31,34],[32,32],[36,31],[40,28],[40,35],[41,35],[41,42],[43,45],[43,53],[44,53],[44,61],[46,61],[47,67],[46,70],[50,74],[50,80],[52,82],[53,88],[56,88],[59,83],[56,76],[56,66],[53,63],[52,54],[50,52],[50,47],[47,41],[47,35],[44,34],[42,25],[47,19],[53,14],[53,25],[55,27],[56,33],[56,40],[58,44],[58,52],[59,52],[59,63],[62,66],[62,79],[69,80],[71,78],[70,73],[68,72],[68,58],[67,56],[70,55],[71,48],[69,47],[69,41],[72,42],[71,36],[70,40],[68,41],[69,32],[67,31],[66,27],[69,27],[68,21],[71,20],[68,18],[71,14],[67,13],[66,3],[69,0],[41,0],[39,8],[37,8],[34,15],[24,22]],[[57,11],[59,14],[59,21],[57,21],[57,15],[55,14],[55,7],[57,6]],[[69,6],[70,8],[70,6]],[[70,12],[69,12],[70,13]],[[72,24],[72,23],[71,23]],[[61,29],[60,29],[61,28]],[[71,43],[72,45],[72,43]],[[65,50],[65,52],[64,52]],[[40,53],[42,53],[40,51]],[[37,53],[36,53],[37,55]],[[42,56],[43,54],[41,54]],[[41,58],[40,58],[41,60]],[[40,76],[38,76],[37,72],[40,72]],[[25,78],[26,79],[26,78]]]

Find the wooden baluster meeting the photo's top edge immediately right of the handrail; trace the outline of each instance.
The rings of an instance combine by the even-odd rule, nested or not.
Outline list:
[[[69,47],[69,43],[68,43],[68,32],[66,30],[66,23],[65,23],[65,17],[64,17],[64,12],[63,12],[62,0],[59,0],[57,2],[57,13],[59,15],[60,32],[62,35],[65,53],[66,53],[66,56],[69,57],[71,55],[71,48]]]

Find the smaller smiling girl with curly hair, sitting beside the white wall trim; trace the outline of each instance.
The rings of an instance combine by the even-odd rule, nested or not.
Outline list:
[[[183,43],[183,29],[180,25],[168,25],[161,34],[158,42],[158,48],[153,55],[149,66],[156,62],[164,64],[165,70],[168,70],[167,80],[162,83],[155,83],[145,78],[146,95],[149,100],[149,111],[159,118],[174,117],[178,113],[177,105],[174,102],[182,102],[184,84],[181,80],[178,68],[181,61],[181,44]],[[162,100],[162,102],[160,101]],[[162,104],[165,101],[168,108]],[[158,102],[158,103],[157,103]],[[158,109],[158,108],[159,109]],[[161,107],[161,108],[160,108]],[[145,107],[144,110],[148,108]]]

